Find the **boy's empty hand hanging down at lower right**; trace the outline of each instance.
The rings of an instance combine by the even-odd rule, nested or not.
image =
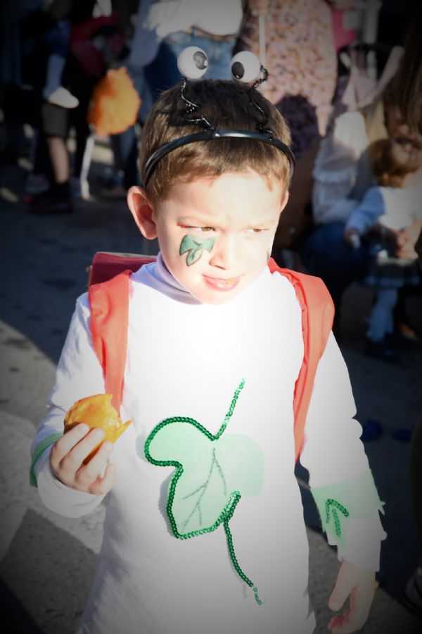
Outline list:
[[[340,610],[347,597],[350,597],[350,606],[343,616],[333,616],[328,630],[333,634],[350,634],[360,630],[368,618],[374,592],[375,573],[343,561],[328,607],[333,611]]]

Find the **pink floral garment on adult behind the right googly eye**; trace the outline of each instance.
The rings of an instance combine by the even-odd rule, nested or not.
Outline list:
[[[325,0],[274,0],[265,15],[267,82],[260,91],[293,132],[297,155],[324,136],[337,80],[331,8]],[[259,56],[257,15],[246,11],[240,49]]]

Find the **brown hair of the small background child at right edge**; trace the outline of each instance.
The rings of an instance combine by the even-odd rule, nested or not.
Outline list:
[[[399,161],[392,139],[378,139],[369,147],[373,175],[379,185],[402,187],[404,177],[416,170],[412,161]]]

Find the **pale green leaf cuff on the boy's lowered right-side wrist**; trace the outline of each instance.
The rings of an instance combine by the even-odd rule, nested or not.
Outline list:
[[[347,527],[352,518],[371,521],[383,505],[371,471],[344,482],[311,488],[328,540],[345,547]]]

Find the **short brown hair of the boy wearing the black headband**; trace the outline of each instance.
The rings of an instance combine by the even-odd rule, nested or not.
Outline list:
[[[250,87],[227,80],[188,82],[185,97],[198,110],[188,118],[205,117],[214,128],[256,131],[262,114],[250,99]],[[253,99],[268,120],[265,128],[290,147],[290,130],[279,111],[257,90]],[[143,177],[146,161],[167,142],[184,135],[201,132],[197,123],[188,123],[186,104],[181,99],[181,84],[162,92],[151,108],[143,127],[139,173]],[[251,168],[267,179],[283,182],[283,193],[290,181],[290,164],[280,149],[253,139],[211,139],[179,147],[160,159],[148,180],[148,198],[154,202],[165,197],[176,180],[189,182],[195,178],[217,178],[226,172],[241,172]]]

